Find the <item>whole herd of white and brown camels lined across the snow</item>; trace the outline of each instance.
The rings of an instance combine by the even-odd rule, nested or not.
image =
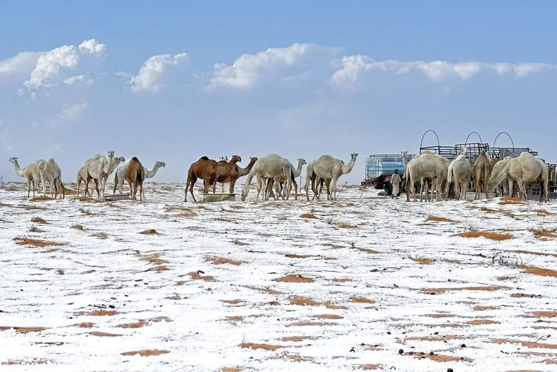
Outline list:
[[[537,159],[530,152],[522,152],[518,157],[505,157],[503,160],[497,160],[489,156],[487,152],[481,152],[473,165],[467,160],[467,151],[463,146],[460,148],[458,156],[451,162],[435,152],[424,151],[420,155],[416,155],[410,162],[407,162],[407,151],[403,151],[404,174],[402,181],[405,183],[406,201],[410,201],[410,193],[416,201],[415,181],[420,179],[422,187],[424,187],[426,200],[429,197],[429,186],[435,188],[436,200],[441,200],[444,194],[445,200],[448,199],[448,187],[451,183],[455,186],[455,197],[460,198],[466,195],[467,188],[472,185],[475,187],[475,198],[479,197],[479,193],[483,188],[486,198],[496,188],[500,191],[500,195],[514,196],[514,184],[518,184],[518,191],[521,198],[526,198],[526,184],[540,184],[540,203],[546,201],[548,193],[548,169],[543,160]],[[132,157],[126,162],[124,157],[115,157],[114,150],[108,152],[108,157],[96,154],[85,161],[78,170],[76,186],[77,196],[80,193],[80,185],[85,181],[85,196],[92,198],[92,191],[89,191],[90,181],[94,181],[94,190],[97,191],[99,200],[105,200],[104,188],[110,174],[116,171],[114,175],[113,195],[116,190],[120,193],[123,191],[123,183],[128,182],[130,187],[130,198],[135,199],[137,190],[140,191],[140,200],[145,200],[143,193],[143,181],[147,178],[154,177],[157,170],[166,167],[164,162],[158,161],[154,163],[152,170],[146,169],[137,157]],[[310,182],[312,184],[313,198],[319,200],[323,186],[326,185],[327,200],[336,200],[336,183],[343,174],[352,171],[357,153],[350,154],[350,160],[345,164],[342,160],[331,157],[331,155],[322,155],[315,160],[307,163],[304,159],[298,159],[298,167],[286,158],[276,154],[269,154],[264,157],[250,157],[247,167],[238,167],[238,163],[242,158],[233,155],[231,160],[228,157],[221,157],[219,161],[209,159],[203,156],[199,160],[190,164],[188,169],[188,179],[185,186],[184,201],[187,201],[188,191],[191,193],[193,200],[193,187],[197,179],[203,180],[203,193],[209,193],[209,187],[212,187],[213,193],[216,191],[216,184],[230,184],[229,192],[234,193],[235,183],[240,177],[247,176],[245,186],[242,189],[242,201],[245,201],[250,191],[250,184],[253,177],[257,179],[257,196],[262,193],[262,200],[269,200],[272,197],[276,200],[273,192],[275,186],[276,195],[283,200],[288,200],[290,192],[294,187],[294,198],[298,199],[298,184],[296,177],[300,176],[302,167],[306,167],[305,194],[307,200],[310,200],[308,192]],[[9,160],[16,169],[16,174],[27,180],[27,197],[30,196],[32,190],[35,196],[37,184],[42,184],[42,192],[47,194],[46,184],[49,184],[49,192],[52,198],[65,197],[65,188],[61,181],[61,169],[54,159],[39,159],[36,162],[28,164],[27,167],[20,168],[17,157],[11,157]],[[318,190],[319,188],[319,190]],[[462,192],[461,192],[462,191]],[[420,201],[422,201],[422,192],[420,190]]]

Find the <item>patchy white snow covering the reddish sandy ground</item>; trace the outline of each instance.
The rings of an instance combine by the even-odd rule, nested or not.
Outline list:
[[[556,203],[241,186],[97,203],[4,184],[1,371],[557,371]]]

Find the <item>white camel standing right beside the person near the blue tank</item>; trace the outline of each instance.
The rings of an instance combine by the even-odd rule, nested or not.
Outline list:
[[[436,189],[436,200],[441,201],[441,184],[443,183],[444,177],[448,173],[448,164],[441,159],[440,155],[434,154],[430,151],[424,151],[419,155],[416,155],[404,169],[404,178],[406,179],[406,201],[410,201],[409,188],[412,192],[414,201],[416,199],[416,193],[414,191],[414,185],[416,179],[420,178],[423,180],[428,178],[431,179],[431,186],[435,185]],[[420,187],[420,201],[422,201],[422,192]],[[427,192],[427,191],[426,191]]]

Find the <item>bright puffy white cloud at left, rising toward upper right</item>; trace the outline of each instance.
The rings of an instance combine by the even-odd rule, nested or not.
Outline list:
[[[96,40],[85,40],[79,47],[63,45],[42,54],[37,60],[35,69],[29,79],[23,83],[25,87],[37,89],[41,86],[50,88],[56,85],[56,80],[62,71],[73,71],[80,63],[83,56],[99,57],[106,51],[106,45],[99,44]]]

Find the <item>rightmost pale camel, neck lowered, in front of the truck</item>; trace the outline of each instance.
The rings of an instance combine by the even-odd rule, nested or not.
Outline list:
[[[544,171],[545,169],[545,171]],[[513,190],[513,182],[518,183],[520,190],[520,198],[526,200],[526,184],[528,182],[541,181],[542,188],[547,195],[548,191],[548,172],[543,161],[536,159],[530,152],[522,152],[518,157],[508,160],[507,164],[496,174],[491,172],[489,181],[487,182],[487,190],[489,192],[501,184],[507,177],[510,177],[509,190]],[[542,191],[542,190],[540,190]],[[541,198],[540,198],[541,199]],[[541,200],[540,200],[541,202]]]

